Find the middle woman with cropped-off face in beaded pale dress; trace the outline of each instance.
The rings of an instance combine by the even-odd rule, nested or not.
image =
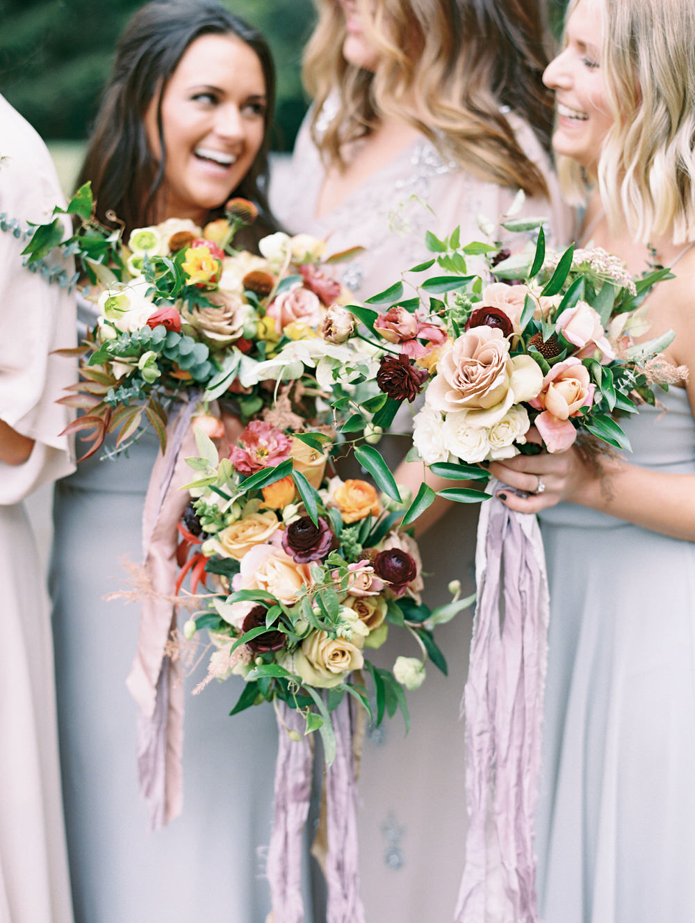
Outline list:
[[[545,153],[544,66],[533,3],[321,0],[305,57],[315,102],[291,187],[275,186],[276,213],[290,230],[326,238],[330,252],[365,247],[341,267],[356,299],[426,259],[427,230],[461,225],[461,240],[479,238],[477,216],[497,221],[520,187],[524,212],[547,215],[564,242],[571,214]],[[386,442],[379,449],[395,468],[409,440]],[[475,514],[452,510],[421,546],[431,604],[450,599],[454,579],[470,591]],[[459,704],[469,631],[466,616],[437,629],[449,677],[430,668],[409,697],[409,736],[398,719],[367,736],[359,833],[369,920],[453,915],[466,829]],[[389,639],[377,655],[390,667],[399,653],[418,652]]]

